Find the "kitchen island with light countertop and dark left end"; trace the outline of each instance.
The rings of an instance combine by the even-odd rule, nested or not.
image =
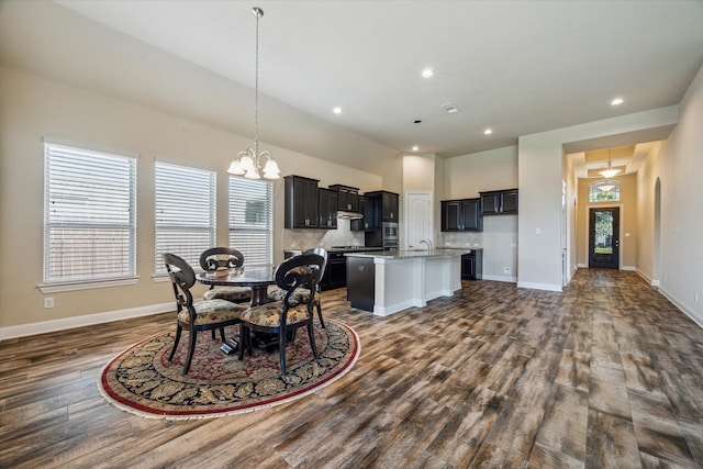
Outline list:
[[[424,306],[461,288],[462,249],[348,253],[347,299],[352,308],[387,316]]]

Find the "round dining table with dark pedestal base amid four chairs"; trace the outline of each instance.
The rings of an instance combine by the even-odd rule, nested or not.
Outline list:
[[[200,283],[226,287],[249,287],[252,289],[252,306],[268,301],[268,286],[276,282],[274,264],[247,264],[232,269],[201,272],[196,276]]]

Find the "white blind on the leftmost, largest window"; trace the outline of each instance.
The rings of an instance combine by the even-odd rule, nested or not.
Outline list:
[[[44,283],[136,275],[136,158],[44,144]]]

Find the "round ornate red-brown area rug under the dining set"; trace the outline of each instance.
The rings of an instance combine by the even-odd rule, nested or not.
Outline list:
[[[287,375],[280,376],[278,350],[257,347],[253,355],[237,359],[236,351],[220,349],[220,334],[200,332],[188,375],[183,364],[188,353],[188,332],[183,332],[172,361],[175,331],[159,334],[131,346],[101,371],[98,389],[114,406],[149,418],[210,418],[252,412],[291,402],[343,377],[356,362],[359,338],[349,326],[325,319],[326,328],[315,322],[315,362],[308,334],[298,331],[287,346]],[[237,336],[238,326],[225,328]]]

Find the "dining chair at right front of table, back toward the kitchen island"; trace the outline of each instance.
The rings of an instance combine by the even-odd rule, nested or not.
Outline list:
[[[313,302],[322,277],[324,258],[317,254],[302,254],[281,263],[274,277],[286,294],[281,301],[252,306],[242,313],[239,323],[239,360],[246,347],[252,355],[252,331],[278,334],[281,376],[286,376],[286,344],[289,333],[306,327],[315,360],[319,359],[313,334]],[[306,298],[306,300],[305,300]],[[291,335],[294,339],[294,334]]]

